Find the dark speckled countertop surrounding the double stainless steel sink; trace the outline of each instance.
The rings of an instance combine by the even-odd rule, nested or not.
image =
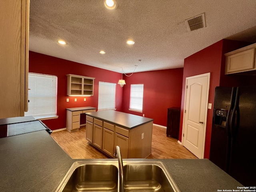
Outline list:
[[[75,161],[45,130],[0,138],[0,191],[54,192]],[[217,192],[242,186],[207,159],[156,161],[164,163],[182,192]]]

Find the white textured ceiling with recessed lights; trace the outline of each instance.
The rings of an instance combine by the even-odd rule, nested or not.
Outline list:
[[[116,2],[107,10],[103,0],[30,0],[29,50],[131,73],[134,65],[135,72],[183,67],[184,58],[223,38],[256,41],[256,0]],[[206,28],[189,32],[184,20],[202,13]]]

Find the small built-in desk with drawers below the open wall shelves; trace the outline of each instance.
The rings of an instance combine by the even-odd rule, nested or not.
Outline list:
[[[69,132],[78,131],[80,128],[80,114],[88,112],[96,112],[95,107],[74,107],[66,108],[67,120],[66,129]]]

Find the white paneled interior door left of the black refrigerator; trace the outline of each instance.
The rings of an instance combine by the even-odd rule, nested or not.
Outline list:
[[[204,158],[210,73],[186,78],[182,144]]]

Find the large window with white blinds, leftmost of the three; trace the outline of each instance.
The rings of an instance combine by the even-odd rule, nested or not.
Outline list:
[[[28,112],[36,119],[56,118],[57,76],[28,73]]]

